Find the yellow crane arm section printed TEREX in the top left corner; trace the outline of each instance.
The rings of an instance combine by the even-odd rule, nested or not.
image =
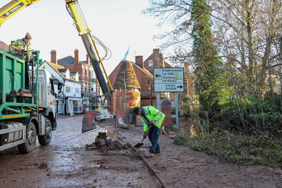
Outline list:
[[[0,9],[0,26],[17,12],[41,0],[13,0]]]

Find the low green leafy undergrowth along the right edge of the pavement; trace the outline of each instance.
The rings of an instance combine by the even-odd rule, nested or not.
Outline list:
[[[252,136],[244,136],[226,130],[214,130],[211,133],[191,135],[187,130],[179,129],[174,141],[193,150],[220,155],[236,164],[248,165],[251,162],[282,168],[281,141],[275,140],[268,132],[254,132]]]

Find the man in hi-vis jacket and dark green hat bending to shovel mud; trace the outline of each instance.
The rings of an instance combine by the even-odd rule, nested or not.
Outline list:
[[[133,112],[136,115],[141,116],[144,127],[143,136],[145,136],[148,128],[150,127],[148,137],[152,145],[149,152],[144,154],[144,157],[153,157],[154,153],[161,152],[160,146],[158,145],[158,137],[160,135],[161,124],[163,123],[165,115],[153,106],[135,107],[133,108]]]

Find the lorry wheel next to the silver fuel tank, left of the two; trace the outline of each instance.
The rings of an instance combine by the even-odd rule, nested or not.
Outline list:
[[[36,145],[36,128],[33,122],[29,122],[26,130],[26,142],[17,145],[21,153],[30,153],[34,150]]]

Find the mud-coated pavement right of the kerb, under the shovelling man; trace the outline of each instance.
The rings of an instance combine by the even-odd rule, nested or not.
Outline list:
[[[101,122],[108,132],[115,134],[133,147],[141,143],[143,127],[130,125],[130,129],[114,127],[113,120]],[[280,187],[282,170],[258,164],[240,165],[227,162],[221,157],[207,155],[189,147],[174,144],[174,140],[160,135],[158,143],[161,153],[144,158],[151,143],[148,137],[137,152],[151,169],[162,187]]]

